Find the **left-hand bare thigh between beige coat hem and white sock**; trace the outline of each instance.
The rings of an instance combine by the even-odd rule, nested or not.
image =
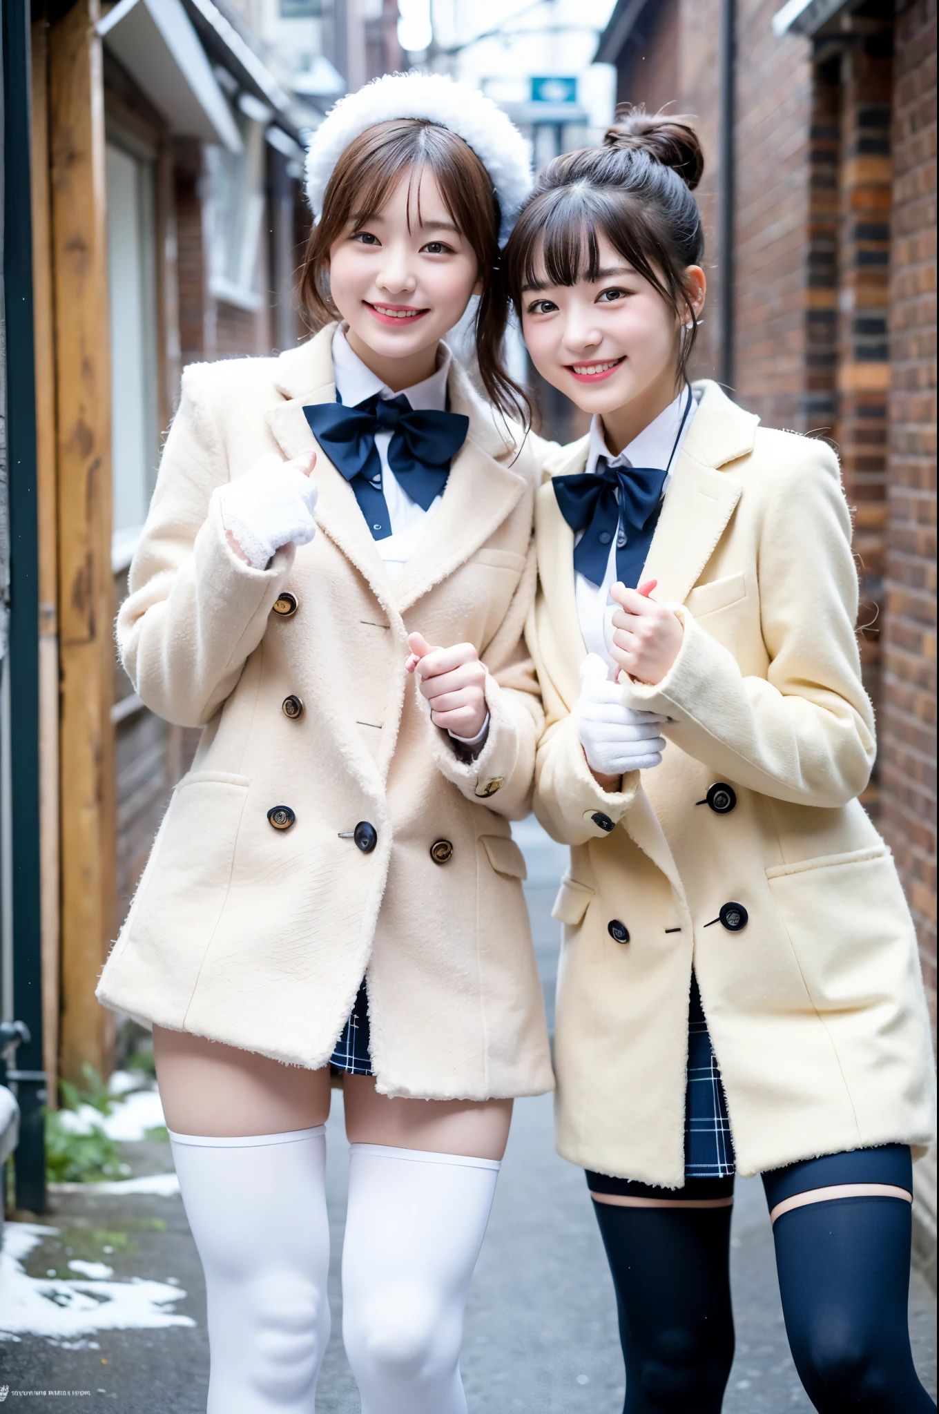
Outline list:
[[[325,1124],[329,1068],[304,1070],[185,1031],[153,1028],[167,1127],[177,1134],[240,1138]]]

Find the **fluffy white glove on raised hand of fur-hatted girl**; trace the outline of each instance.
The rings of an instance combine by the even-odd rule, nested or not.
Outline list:
[[[313,512],[318,491],[305,475],[311,455],[281,461],[272,452],[245,477],[215,491],[222,523],[253,570],[264,570],[281,546],[291,540],[308,544],[317,533]]]

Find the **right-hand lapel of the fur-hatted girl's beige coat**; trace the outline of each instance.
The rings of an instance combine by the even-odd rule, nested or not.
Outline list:
[[[440,506],[426,523],[395,585],[402,614],[485,544],[512,513],[526,486],[526,478],[499,460],[515,455],[513,440],[508,431],[498,430],[455,359],[448,390],[451,411],[464,413],[470,430],[453,460]]]

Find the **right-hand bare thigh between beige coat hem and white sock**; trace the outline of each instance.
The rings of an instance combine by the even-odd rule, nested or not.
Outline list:
[[[346,1075],[345,1133],[351,1144],[387,1144],[428,1154],[505,1154],[512,1100],[400,1100],[379,1094],[366,1075]]]

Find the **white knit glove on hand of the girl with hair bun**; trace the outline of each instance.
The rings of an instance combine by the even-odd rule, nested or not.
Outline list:
[[[659,727],[667,717],[624,707],[622,689],[611,683],[607,665],[588,653],[580,665],[580,699],[574,721],[587,765],[601,776],[622,776],[628,771],[651,771],[662,764],[665,737]]]

